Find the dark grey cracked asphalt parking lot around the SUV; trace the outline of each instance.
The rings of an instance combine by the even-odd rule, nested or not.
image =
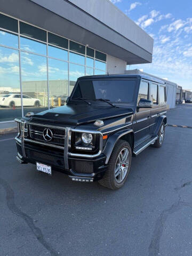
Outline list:
[[[192,126],[192,104],[167,119]],[[116,191],[19,164],[14,135],[0,137],[0,255],[192,255],[192,129],[167,126]]]

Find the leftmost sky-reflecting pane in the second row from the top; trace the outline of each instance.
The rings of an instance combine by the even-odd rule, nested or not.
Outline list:
[[[18,48],[18,35],[0,30],[0,44]]]

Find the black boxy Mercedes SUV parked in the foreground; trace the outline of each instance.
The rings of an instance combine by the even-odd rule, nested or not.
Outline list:
[[[17,159],[78,182],[124,185],[131,158],[161,147],[166,125],[165,83],[146,75],[77,79],[66,106],[27,113],[18,123]]]

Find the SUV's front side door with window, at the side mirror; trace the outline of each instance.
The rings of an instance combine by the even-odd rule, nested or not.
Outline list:
[[[137,106],[139,106],[139,100],[141,98],[149,99],[149,82],[145,80],[141,80],[140,83]],[[144,142],[150,137],[149,117],[150,108],[137,109],[134,124],[135,147],[139,146],[142,142]]]

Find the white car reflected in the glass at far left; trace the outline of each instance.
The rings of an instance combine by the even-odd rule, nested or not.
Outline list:
[[[31,98],[25,94],[22,95],[23,107],[27,106],[40,106],[39,99]],[[5,94],[3,97],[0,96],[1,107],[21,107],[21,94]]]

